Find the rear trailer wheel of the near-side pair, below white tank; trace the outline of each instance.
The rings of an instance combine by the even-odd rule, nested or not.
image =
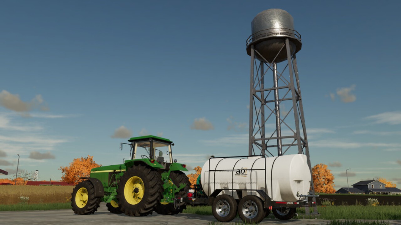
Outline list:
[[[259,197],[247,195],[239,201],[238,214],[245,223],[260,223],[266,213]]]

